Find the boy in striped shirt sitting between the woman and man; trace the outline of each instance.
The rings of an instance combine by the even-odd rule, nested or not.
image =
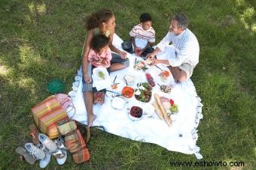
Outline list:
[[[145,56],[154,51],[151,47],[155,42],[155,31],[152,28],[152,19],[149,13],[142,13],[139,17],[140,24],[135,25],[130,31],[131,41],[124,41],[122,47],[126,52]],[[133,43],[133,45],[132,45]]]

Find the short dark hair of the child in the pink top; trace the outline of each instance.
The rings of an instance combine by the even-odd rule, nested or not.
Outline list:
[[[99,52],[99,50],[105,46],[107,46],[109,43],[109,38],[105,35],[98,34],[93,37],[93,39],[90,42],[90,48],[93,49],[96,52]]]

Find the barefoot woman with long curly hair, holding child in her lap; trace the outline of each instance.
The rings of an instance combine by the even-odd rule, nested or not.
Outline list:
[[[92,84],[92,65],[88,62],[90,43],[96,34],[102,34],[109,38],[109,48],[112,58],[111,66],[108,71],[121,70],[129,66],[130,61],[126,58],[126,52],[120,51],[113,44],[115,17],[109,9],[101,9],[87,17],[87,37],[84,43],[84,52],[82,59],[83,69],[83,92],[84,103],[87,109],[87,127],[91,127],[96,115],[93,114],[93,84]],[[114,53],[115,52],[115,53]]]

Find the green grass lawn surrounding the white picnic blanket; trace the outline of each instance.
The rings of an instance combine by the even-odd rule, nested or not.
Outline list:
[[[189,28],[200,42],[200,63],[192,80],[204,105],[197,141],[203,160],[243,161],[245,169],[253,169],[255,6],[253,0],[0,1],[0,169],[39,169],[38,163],[29,166],[14,153],[17,146],[30,140],[28,124],[33,120],[29,109],[50,95],[46,91],[50,79],[62,79],[66,92],[71,91],[81,65],[84,18],[102,7],[114,11],[116,33],[123,40],[142,12],[152,14],[157,42],[166,34],[173,14],[189,16]],[[69,155],[64,166],[52,158],[47,168],[173,169],[170,161],[197,160],[194,155],[101,130],[93,129],[92,134],[89,162],[77,165]]]

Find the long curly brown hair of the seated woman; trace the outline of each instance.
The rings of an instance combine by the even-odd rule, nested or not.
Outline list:
[[[102,22],[108,22],[108,20],[114,16],[114,13],[106,8],[98,10],[96,13],[87,16],[86,27],[87,30],[99,27]]]

